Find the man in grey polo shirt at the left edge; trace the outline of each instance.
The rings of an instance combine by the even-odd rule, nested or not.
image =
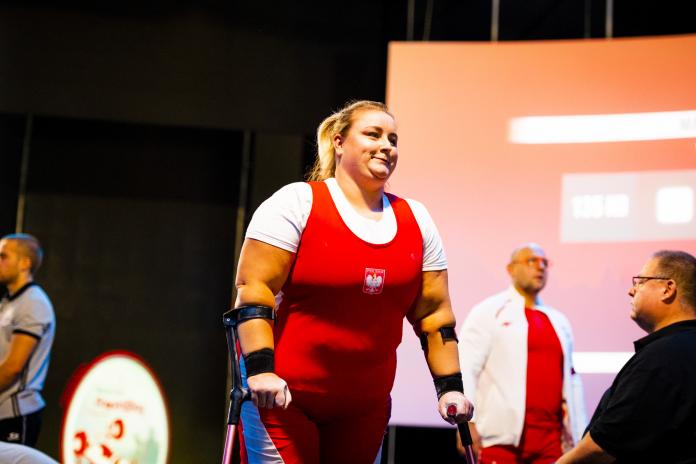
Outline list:
[[[28,234],[0,239],[0,441],[34,446],[55,333],[53,306],[34,283],[43,251]]]

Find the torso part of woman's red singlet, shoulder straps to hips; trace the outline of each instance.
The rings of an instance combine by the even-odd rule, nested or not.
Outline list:
[[[398,233],[367,243],[345,225],[326,184],[310,185],[312,211],[278,308],[276,371],[291,391],[383,400],[421,286],[421,231],[408,203],[390,196]]]

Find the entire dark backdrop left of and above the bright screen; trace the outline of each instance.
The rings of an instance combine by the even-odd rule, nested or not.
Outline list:
[[[613,35],[696,32],[688,3],[614,0]],[[501,0],[499,39],[603,37],[606,5]],[[490,0],[0,0],[0,233],[25,199],[58,317],[39,447],[58,456],[72,372],[129,349],[168,395],[170,461],[219,461],[238,224],[331,110],[384,99],[390,40],[490,34]],[[424,439],[456,460],[451,430],[391,432],[390,462]]]

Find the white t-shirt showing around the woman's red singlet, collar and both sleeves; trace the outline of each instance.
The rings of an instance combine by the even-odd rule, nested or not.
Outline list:
[[[382,196],[383,213],[378,220],[358,214],[346,199],[336,179],[327,179],[336,209],[351,232],[362,240],[382,244],[396,235],[396,217],[386,195]],[[437,227],[425,206],[407,199],[423,235],[423,271],[447,269],[447,257]],[[312,211],[312,187],[295,182],[282,187],[258,207],[247,228],[246,238],[297,252],[302,232]]]

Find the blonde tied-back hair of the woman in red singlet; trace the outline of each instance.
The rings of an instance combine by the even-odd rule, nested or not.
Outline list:
[[[317,159],[314,161],[308,180],[322,181],[336,174],[336,150],[333,138],[337,134],[345,136],[350,130],[355,113],[364,110],[383,111],[394,117],[381,102],[371,100],[354,100],[346,103],[340,110],[324,119],[317,128]]]

